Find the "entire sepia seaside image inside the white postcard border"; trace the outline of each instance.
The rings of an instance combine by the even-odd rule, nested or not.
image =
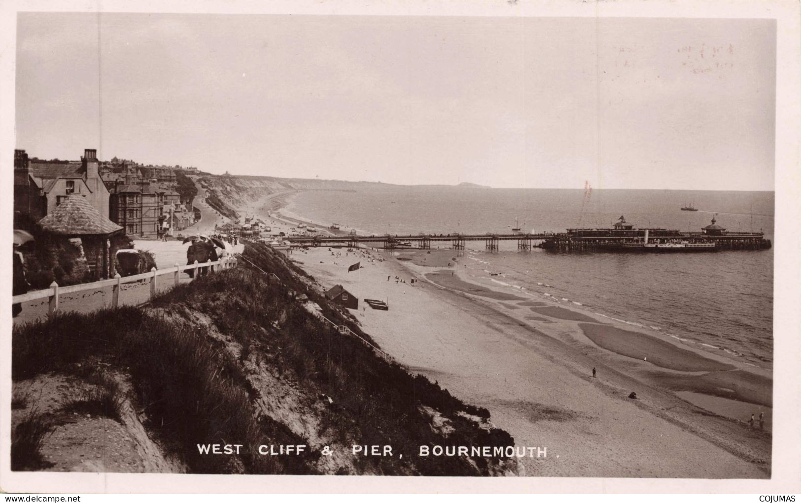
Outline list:
[[[13,24],[11,473],[771,479],[775,18]]]

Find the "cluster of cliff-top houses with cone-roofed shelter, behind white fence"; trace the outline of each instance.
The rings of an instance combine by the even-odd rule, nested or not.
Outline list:
[[[120,250],[133,251],[134,240],[178,238],[198,221],[198,174],[195,167],[102,161],[95,149],[77,161],[14,150],[14,263],[24,264],[15,269],[14,294],[125,275]],[[18,233],[30,238],[18,240]],[[155,265],[152,254],[136,254],[133,273]]]

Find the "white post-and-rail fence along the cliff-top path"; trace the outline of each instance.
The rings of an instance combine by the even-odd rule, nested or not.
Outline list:
[[[46,288],[43,290],[36,290],[35,292],[22,293],[20,295],[14,295],[14,297],[11,297],[11,303],[18,304],[22,302],[35,301],[40,298],[48,298],[49,305],[47,307],[47,312],[54,313],[55,311],[58,311],[58,297],[61,295],[65,295],[66,293],[83,292],[85,290],[98,290],[111,286],[112,287],[111,306],[116,308],[119,305],[119,286],[125,283],[133,283],[134,281],[142,281],[149,279],[151,287],[150,298],[152,299],[153,297],[155,297],[159,276],[172,274],[175,285],[178,285],[180,282],[179,281],[180,273],[183,271],[191,270],[193,271],[192,276],[197,277],[201,268],[202,269],[208,268],[207,269],[208,271],[214,271],[215,268],[230,269],[234,265],[236,265],[235,258],[221,258],[218,261],[213,261],[213,262],[207,261],[198,263],[198,261],[195,261],[194,264],[190,265],[175,264],[175,267],[171,267],[169,269],[156,269],[154,267],[153,269],[150,270],[149,273],[134,274],[133,276],[121,277],[119,273],[117,273],[115,274],[115,277],[113,277],[112,279],[95,281],[93,283],[81,283],[79,285],[58,286],[58,283],[53,281],[52,283],[50,283],[50,288]]]

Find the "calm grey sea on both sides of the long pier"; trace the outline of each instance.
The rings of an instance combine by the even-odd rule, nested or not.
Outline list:
[[[682,211],[691,204],[698,211]],[[356,192],[296,194],[286,210],[360,234],[563,232],[610,227],[700,230],[715,218],[728,230],[774,239],[774,193],[682,190],[490,189],[376,185]],[[443,245],[445,246],[445,245]],[[547,296],[591,312],[725,353],[773,365],[773,250],[717,253],[497,252],[468,242],[469,276],[509,292]]]

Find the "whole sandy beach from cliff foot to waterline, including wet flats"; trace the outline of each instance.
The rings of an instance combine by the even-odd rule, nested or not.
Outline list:
[[[249,210],[269,208],[290,230],[297,221],[277,218],[285,196]],[[527,475],[769,477],[769,373],[581,306],[498,291],[465,277],[456,250],[288,253],[323,288],[359,297],[352,312],[400,363],[488,408],[517,445],[546,446],[546,458],[523,460]],[[764,431],[745,422],[760,411]]]

